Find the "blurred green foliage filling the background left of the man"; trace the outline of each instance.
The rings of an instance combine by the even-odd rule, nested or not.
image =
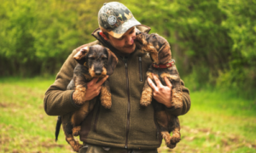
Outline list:
[[[73,48],[93,40],[90,33],[97,27],[95,19],[102,3],[3,0],[0,75],[55,73]]]

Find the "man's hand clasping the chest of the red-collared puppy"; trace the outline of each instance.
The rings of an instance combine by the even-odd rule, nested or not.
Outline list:
[[[154,82],[148,77],[148,84],[153,89],[153,98],[158,101],[159,103],[166,105],[167,108],[172,106],[171,99],[172,99],[172,83],[165,77],[165,82],[167,86],[164,86],[160,80],[154,76]]]

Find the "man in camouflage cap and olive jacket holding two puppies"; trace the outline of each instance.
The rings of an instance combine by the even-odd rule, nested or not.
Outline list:
[[[73,102],[73,90],[66,90],[77,64],[73,55],[80,48],[100,44],[113,51],[119,63],[110,77],[104,77],[99,82],[93,79],[87,84],[84,100],[100,94],[102,83],[108,79],[113,105],[110,110],[96,105],[82,122],[80,140],[84,141],[84,147],[79,152],[156,153],[161,136],[154,122],[154,108],[152,105],[146,108],[139,105],[144,82],[148,81],[153,88],[153,100],[166,105],[166,112],[175,116],[189,111],[189,90],[182,86],[183,108],[174,110],[171,104],[171,82],[166,79],[164,86],[155,76],[155,84],[149,78],[146,80],[146,71],[152,61],[147,54],[137,50],[134,39],[137,31],[148,32],[150,28],[141,25],[123,4],[104,3],[98,14],[98,22],[100,28],[92,33],[97,40],[74,49],[62,65],[54,84],[46,91],[45,112],[51,116],[62,116],[79,109],[80,106]]]

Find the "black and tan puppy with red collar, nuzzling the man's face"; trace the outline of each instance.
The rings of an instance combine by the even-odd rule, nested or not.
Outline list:
[[[172,82],[172,107],[175,109],[183,106],[181,81],[177,72],[176,65],[172,59],[172,53],[169,43],[164,37],[157,34],[139,33],[135,40],[137,48],[142,52],[148,52],[153,64],[147,71],[147,77],[154,80],[153,75],[160,79],[162,84],[166,85],[165,77]],[[148,106],[152,101],[153,90],[145,82],[143,87],[140,105]],[[162,137],[166,140],[169,148],[174,148],[180,141],[180,125],[177,116],[171,116],[166,113],[164,105],[154,103],[155,118],[160,125]],[[170,132],[172,131],[172,137]]]

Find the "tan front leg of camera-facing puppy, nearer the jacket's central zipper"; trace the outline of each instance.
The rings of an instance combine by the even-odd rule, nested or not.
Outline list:
[[[111,108],[112,99],[111,99],[110,88],[108,85],[108,80],[106,80],[102,84],[101,102],[102,102],[102,106],[105,107],[106,109]]]

